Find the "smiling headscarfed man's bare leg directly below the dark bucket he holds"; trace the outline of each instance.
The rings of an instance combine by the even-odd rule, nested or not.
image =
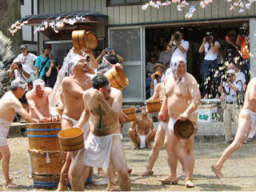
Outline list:
[[[194,136],[189,139],[182,140],[182,148],[186,180],[190,180],[190,185],[186,186],[193,187],[192,174],[194,170]]]

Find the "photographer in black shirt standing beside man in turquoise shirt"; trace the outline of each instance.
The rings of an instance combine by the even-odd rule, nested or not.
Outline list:
[[[57,59],[50,58],[50,67],[46,66],[45,72],[46,72],[46,86],[49,86],[50,88],[54,88],[54,84],[56,82],[56,79],[58,77],[58,71],[61,65],[57,61]]]

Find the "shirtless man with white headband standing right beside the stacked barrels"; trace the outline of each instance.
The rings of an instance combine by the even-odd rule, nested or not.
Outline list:
[[[63,78],[62,80],[62,95],[65,104],[62,115],[62,130],[77,126],[78,120],[84,110],[82,100],[83,91],[91,87],[92,75],[86,73],[89,70],[86,58],[76,54],[71,60],[71,65],[73,66],[73,75]],[[85,138],[89,129],[90,125],[86,123],[83,127]],[[66,189],[68,172],[74,157],[75,153],[68,152],[66,155],[66,162],[64,166],[62,166],[60,182],[58,184],[59,191]]]

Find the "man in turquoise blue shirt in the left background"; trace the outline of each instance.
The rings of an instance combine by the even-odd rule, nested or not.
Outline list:
[[[35,75],[36,78],[43,78],[43,76],[46,74],[46,67],[50,67],[49,64],[49,54],[50,54],[50,50],[51,50],[51,45],[50,44],[46,44],[43,46],[43,53],[42,55],[38,56],[37,60],[35,61]]]

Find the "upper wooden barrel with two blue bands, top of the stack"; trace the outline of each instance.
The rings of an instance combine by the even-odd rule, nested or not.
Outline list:
[[[27,123],[30,150],[61,150],[58,142],[61,130],[61,122]]]

